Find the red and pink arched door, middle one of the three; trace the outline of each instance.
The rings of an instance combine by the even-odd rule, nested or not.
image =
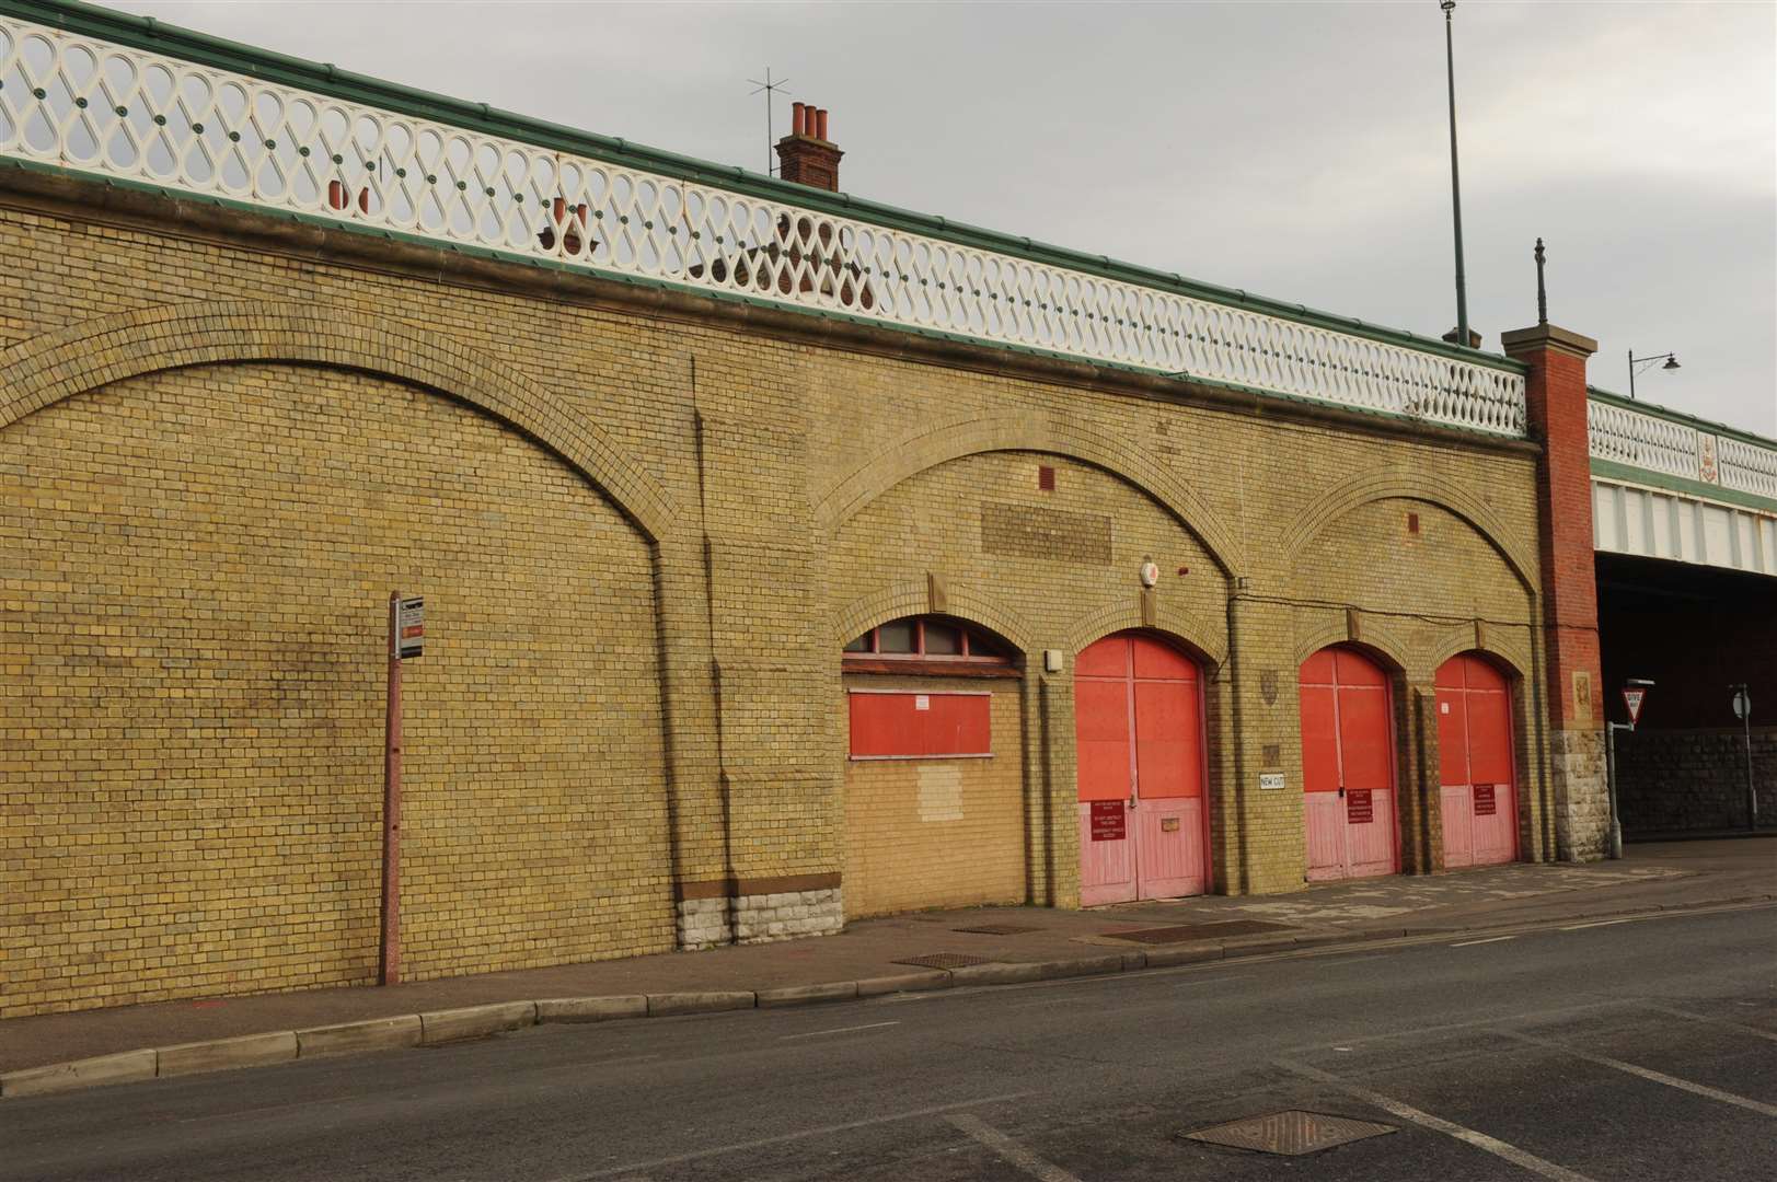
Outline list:
[[[1400,862],[1388,674],[1335,645],[1303,661],[1299,684],[1308,878],[1393,875]]]

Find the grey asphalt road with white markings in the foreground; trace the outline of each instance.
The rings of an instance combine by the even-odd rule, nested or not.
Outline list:
[[[1311,1157],[1178,1136],[1279,1109],[1395,1132]],[[1278,1177],[1777,1177],[1777,908],[0,1104],[0,1178]]]

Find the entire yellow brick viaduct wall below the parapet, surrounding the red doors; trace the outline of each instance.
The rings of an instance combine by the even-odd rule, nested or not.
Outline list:
[[[1025,658],[1038,903],[1077,903],[1072,658],[1102,635],[1151,620],[1205,656],[1219,890],[1301,887],[1294,679],[1345,608],[1402,709],[1475,615],[1535,668],[1528,450],[654,313],[592,279],[366,265],[338,235],[267,247],[252,220],[188,212],[174,236],[0,192],[7,1013],[368,979],[394,583],[434,635],[410,667],[416,976],[666,947],[673,880],[848,875],[878,835],[848,819],[839,649],[928,610],[931,574]],[[473,601],[444,590],[464,574]],[[1404,747],[1404,786],[1425,755]]]

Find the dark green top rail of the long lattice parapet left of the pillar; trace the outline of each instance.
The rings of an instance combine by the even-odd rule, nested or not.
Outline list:
[[[743,192],[771,201],[794,203],[810,210],[823,210],[837,217],[853,217],[878,226],[904,229],[908,233],[942,238],[958,245],[977,247],[1011,254],[1032,263],[1047,263],[1079,270],[1102,279],[1132,283],[1144,288],[1171,292],[1192,299],[1240,307],[1246,311],[1292,320],[1319,329],[1345,332],[1384,345],[1400,345],[1416,352],[1436,354],[1455,361],[1466,361],[1505,373],[1525,373],[1525,364],[1498,354],[1484,354],[1471,348],[1457,348],[1441,339],[1418,336],[1404,329],[1386,329],[1365,323],[1351,316],[1319,311],[1306,304],[1288,304],[1283,300],[1251,295],[1235,288],[1223,288],[1210,283],[1185,279],[1183,276],[1120,263],[1104,254],[1082,254],[1066,247],[1056,247],[1031,238],[1004,235],[949,219],[899,210],[890,204],[864,201],[849,194],[830,194],[823,188],[793,185],[777,178],[748,172],[746,169],[711,164],[693,156],[633,144],[624,139],[579,132],[556,123],[531,119],[514,112],[489,107],[487,103],[466,103],[462,100],[419,91],[416,87],[384,82],[355,75],[323,62],[309,62],[297,57],[284,57],[249,44],[211,37],[206,34],[167,25],[151,16],[130,16],[112,12],[78,0],[0,0],[0,12],[18,20],[64,28],[89,37],[100,37],[126,44],[137,50],[165,53],[188,62],[231,69],[236,73],[265,78],[281,85],[293,85],[318,94],[329,94],[355,103],[370,103],[421,119],[437,119],[460,128],[485,132],[506,139],[517,139],[537,148],[569,151],[594,156],[610,164],[647,169],[675,180],[716,185],[732,192]]]

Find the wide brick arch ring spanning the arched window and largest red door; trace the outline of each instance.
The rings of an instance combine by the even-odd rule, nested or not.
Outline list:
[[[1151,496],[1189,530],[1230,579],[1244,574],[1246,556],[1198,492],[1151,457],[1118,439],[1038,414],[963,416],[922,427],[883,448],[833,483],[814,505],[816,524],[835,533],[878,496],[928,467],[984,451],[1045,451],[1080,460]]]

